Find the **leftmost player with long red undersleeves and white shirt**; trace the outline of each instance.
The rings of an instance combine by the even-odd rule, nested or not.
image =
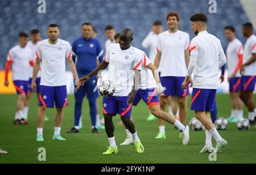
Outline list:
[[[9,69],[13,64],[13,84],[18,94],[14,124],[28,124],[27,120],[24,119],[24,106],[27,96],[30,94],[28,69],[30,65],[32,66],[32,52],[26,47],[27,42],[28,35],[20,32],[19,44],[10,49],[5,67],[5,86],[8,87]]]

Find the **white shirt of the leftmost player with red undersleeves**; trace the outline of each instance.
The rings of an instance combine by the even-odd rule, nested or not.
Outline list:
[[[21,48],[19,45],[11,48],[7,61],[13,62],[13,81],[28,81],[29,72],[28,69],[31,67],[30,61],[32,60],[32,53],[29,48]]]

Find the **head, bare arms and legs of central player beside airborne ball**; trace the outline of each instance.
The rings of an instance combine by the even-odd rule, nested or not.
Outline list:
[[[129,49],[131,47],[131,41],[133,41],[133,32],[129,28],[125,28],[121,31],[119,36],[119,45],[122,50]],[[80,79],[81,84],[84,84],[86,81],[88,81],[91,77],[95,76],[100,70],[104,70],[108,67],[109,62],[102,62],[100,65],[97,66],[96,69],[94,69],[91,73],[88,75],[82,77]],[[135,72],[135,78],[134,78],[134,89],[131,91],[128,96],[129,99],[127,103],[130,105],[135,95],[137,94],[137,89],[139,87],[139,77],[140,77],[140,71],[134,70]],[[108,138],[114,137],[114,123],[113,123],[113,115],[112,114],[104,114],[105,119],[105,130],[106,134],[108,135]],[[128,118],[127,116],[121,116],[122,122],[125,124],[126,128],[131,132],[131,134],[134,134],[136,132],[135,126],[133,123],[133,120]]]

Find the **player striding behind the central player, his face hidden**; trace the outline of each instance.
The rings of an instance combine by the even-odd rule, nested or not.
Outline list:
[[[148,109],[152,115],[173,124],[177,130],[180,131],[183,139],[183,145],[187,145],[189,141],[189,127],[184,126],[179,122],[179,120],[175,119],[174,116],[160,109],[158,94],[162,94],[164,88],[160,83],[158,70],[151,63],[151,60],[148,59],[146,54],[143,53],[143,55],[144,57],[142,59],[141,82],[139,84],[139,90],[135,95],[133,105],[137,106],[141,99],[143,99],[143,101],[148,105]],[[130,134],[130,131],[127,130],[127,128],[125,129],[127,138],[121,145],[133,144],[133,138]]]

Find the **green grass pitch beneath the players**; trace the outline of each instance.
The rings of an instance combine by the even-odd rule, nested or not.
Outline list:
[[[217,155],[216,162],[208,160],[209,154],[199,154],[205,143],[204,131],[191,131],[191,141],[187,146],[181,145],[179,133],[173,126],[166,123],[166,140],[155,140],[158,134],[157,120],[146,122],[147,106],[141,102],[133,107],[133,119],[139,138],[145,147],[145,152],[138,155],[133,145],[118,146],[118,154],[102,155],[109,145],[105,131],[100,134],[91,133],[89,105],[85,100],[83,105],[84,128],[80,134],[65,134],[73,127],[74,97],[69,96],[69,107],[65,109],[62,136],[67,141],[53,141],[54,109],[47,110],[51,119],[44,127],[44,142],[36,142],[36,97],[32,95],[29,125],[14,126],[16,95],[0,95],[0,147],[5,148],[9,155],[0,156],[2,163],[42,163],[38,161],[38,148],[46,148],[46,162],[43,163],[110,163],[110,164],[159,164],[159,163],[256,163],[256,126],[249,131],[238,131],[236,124],[229,124],[228,130],[220,134],[228,141],[228,147]],[[254,97],[256,100],[256,97]],[[190,99],[189,99],[190,102]],[[100,99],[101,109],[101,99]],[[218,118],[228,118],[230,115],[229,95],[217,95]],[[245,109],[247,118],[247,110]],[[100,110],[100,113],[102,111]],[[194,116],[189,110],[188,122]],[[119,145],[126,138],[122,126],[118,126],[119,116],[114,118],[115,139]]]

